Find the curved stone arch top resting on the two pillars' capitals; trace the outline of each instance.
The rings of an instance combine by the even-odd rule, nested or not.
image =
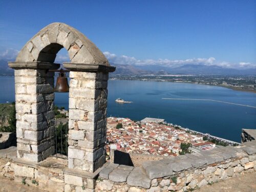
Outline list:
[[[52,23],[34,35],[15,62],[51,62],[58,51],[67,49],[71,63],[110,66],[103,53],[81,32],[63,23]]]

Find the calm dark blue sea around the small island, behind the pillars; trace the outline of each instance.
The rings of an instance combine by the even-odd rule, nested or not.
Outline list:
[[[165,119],[191,130],[241,141],[241,129],[256,129],[256,108],[209,100],[256,106],[256,94],[201,84],[109,80],[108,116]],[[0,77],[0,102],[12,102],[14,77]],[[132,103],[116,103],[122,98]],[[56,93],[55,104],[68,109],[68,93]]]

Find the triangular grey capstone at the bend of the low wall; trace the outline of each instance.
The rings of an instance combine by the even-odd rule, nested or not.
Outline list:
[[[170,183],[169,180],[167,181]],[[145,175],[140,167],[135,167],[131,174],[127,177],[127,184],[136,187],[150,188],[151,179]]]

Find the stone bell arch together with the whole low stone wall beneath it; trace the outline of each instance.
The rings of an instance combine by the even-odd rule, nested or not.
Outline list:
[[[58,152],[51,124],[55,113],[50,70],[59,68],[54,60],[62,48],[70,56],[63,65],[70,70],[66,159],[53,156]],[[148,158],[141,166],[106,162],[107,88],[115,67],[71,26],[53,23],[43,28],[9,66],[15,69],[17,147],[0,150],[0,175],[13,182],[54,192],[183,192],[256,170],[256,137],[248,130],[243,130],[242,146]]]

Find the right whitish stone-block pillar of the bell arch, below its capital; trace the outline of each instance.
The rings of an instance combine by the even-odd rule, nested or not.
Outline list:
[[[95,172],[105,163],[108,72],[70,72],[69,168]]]

